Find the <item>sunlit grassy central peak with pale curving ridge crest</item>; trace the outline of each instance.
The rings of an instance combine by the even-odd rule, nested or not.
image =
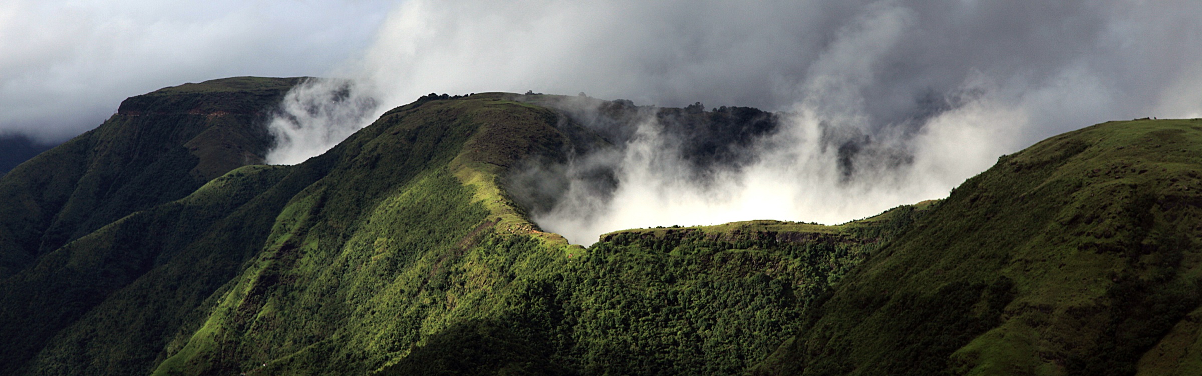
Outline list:
[[[494,132],[554,135],[547,115],[487,94],[385,114],[326,155],[333,161],[331,173],[282,209],[261,257],[232,281],[236,287],[200,333],[156,372],[248,370],[255,363],[269,363],[266,372],[362,372],[388,359],[380,352],[401,351],[394,346],[436,330],[446,316],[478,315],[477,309],[499,304],[486,299],[508,285],[494,268],[561,262],[555,259],[563,255],[547,252],[567,245],[534,232],[484,177],[547,143],[481,139]],[[490,237],[495,228],[506,237]],[[493,243],[487,247],[493,252],[501,246],[496,243],[542,252],[487,259],[478,243]],[[460,286],[470,274],[448,273],[452,268],[482,275]],[[411,277],[381,279],[397,274]],[[225,357],[231,350],[238,356]],[[331,352],[339,360],[317,362],[328,360]]]

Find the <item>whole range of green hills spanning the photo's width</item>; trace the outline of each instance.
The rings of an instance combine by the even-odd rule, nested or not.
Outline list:
[[[0,375],[1197,371],[1202,121],[1061,135],[841,226],[585,249],[507,190],[525,161],[620,143],[569,97],[424,96],[304,163],[256,165],[298,80],[131,97],[0,178]],[[727,148],[775,121],[655,115],[722,135],[682,141],[698,165],[740,163]]]

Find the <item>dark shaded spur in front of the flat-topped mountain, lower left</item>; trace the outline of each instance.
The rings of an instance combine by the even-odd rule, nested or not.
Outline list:
[[[272,216],[263,214],[303,187],[282,173],[234,171],[184,199],[81,238],[6,281],[6,322],[20,323],[6,329],[36,328],[23,338],[49,340],[29,371],[137,374],[155,362],[177,330],[200,320],[196,310],[209,294],[258,251],[270,229]]]

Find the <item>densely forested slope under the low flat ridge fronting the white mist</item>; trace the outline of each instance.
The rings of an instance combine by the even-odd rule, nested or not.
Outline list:
[[[792,335],[839,275],[922,213],[902,207],[840,227],[755,221],[613,233],[519,285],[518,305],[435,334],[385,374],[740,374]]]

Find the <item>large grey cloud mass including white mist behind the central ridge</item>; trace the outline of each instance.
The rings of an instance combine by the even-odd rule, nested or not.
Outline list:
[[[746,150],[756,163],[698,184],[647,119],[618,153],[553,168],[603,165],[615,191],[597,197],[573,180],[579,189],[535,220],[584,244],[654,225],[835,223],[944,197],[1055,133],[1202,115],[1200,16],[1202,4],[1184,0],[405,1],[337,72],[356,83],[349,103],[377,106],[296,107],[314,119],[278,121],[281,139],[325,141],[284,142],[270,160],[300,162],[430,91],[754,106],[791,113]],[[334,91],[309,85],[290,101],[326,103]],[[840,177],[831,132],[871,137],[908,162],[861,153],[857,173]]]

